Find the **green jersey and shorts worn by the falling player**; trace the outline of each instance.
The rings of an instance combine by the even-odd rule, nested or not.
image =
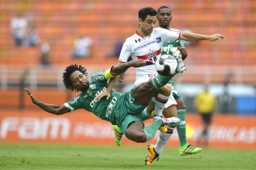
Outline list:
[[[126,93],[118,93],[112,89],[108,100],[106,98],[101,98],[100,101],[95,100],[96,95],[103,93],[108,87],[108,79],[105,78],[104,73],[105,71],[101,71],[92,75],[89,81],[89,89],[80,93],[71,101],[64,103],[64,105],[70,108],[71,112],[77,109],[92,112],[100,119],[122,127],[123,132],[125,132],[130,122],[142,122],[141,112],[146,106],[135,101],[132,93],[133,89]]]

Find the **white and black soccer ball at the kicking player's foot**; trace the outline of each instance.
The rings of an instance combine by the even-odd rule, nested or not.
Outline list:
[[[172,55],[161,55],[158,57],[156,63],[156,69],[158,71],[158,74],[169,77],[173,75],[178,67],[178,63],[176,58],[174,58]]]

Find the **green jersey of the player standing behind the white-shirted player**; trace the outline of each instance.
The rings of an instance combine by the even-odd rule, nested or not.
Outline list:
[[[170,28],[169,30],[171,31],[176,31],[176,32],[180,32],[179,30],[176,30],[176,29],[172,29]],[[162,51],[161,51],[161,55],[164,55],[164,54],[169,54],[169,55],[173,55],[172,53],[172,47],[176,47],[178,48],[181,47],[181,48],[185,48],[184,47],[184,44],[183,44],[183,40],[177,40],[177,41],[168,41],[168,42],[165,42],[163,44],[163,47],[162,47]],[[173,79],[171,79],[169,81],[169,84],[173,84]]]

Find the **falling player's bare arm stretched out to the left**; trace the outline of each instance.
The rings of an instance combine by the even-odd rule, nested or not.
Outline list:
[[[54,114],[54,115],[62,115],[64,113],[70,112],[70,109],[67,108],[64,104],[62,105],[56,105],[56,104],[47,104],[44,102],[40,102],[36,99],[35,95],[27,88],[25,88],[25,91],[30,96],[32,102],[36,105],[38,105],[41,109],[44,111]]]

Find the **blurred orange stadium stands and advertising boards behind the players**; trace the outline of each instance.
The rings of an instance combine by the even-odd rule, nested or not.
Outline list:
[[[114,145],[110,123],[89,113],[85,118],[85,112],[79,111],[58,118],[44,113],[23,89],[29,88],[42,102],[69,101],[76,94],[62,84],[64,68],[83,65],[91,75],[116,65],[118,58],[108,55],[118,39],[124,41],[137,31],[138,10],[163,5],[172,10],[171,28],[226,36],[187,46],[187,71],[174,78],[187,106],[189,142],[195,143],[201,129],[193,100],[203,83],[210,81],[220,112],[211,126],[215,137],[210,146],[256,149],[255,0],[0,0],[0,141],[95,143],[98,137]],[[15,46],[10,22],[17,14],[35,26],[40,37],[37,46]],[[73,59],[74,41],[81,35],[92,39],[91,54]],[[48,66],[40,65],[44,42],[51,48]],[[116,90],[131,88],[135,74],[130,68]],[[123,143],[135,144],[125,139]],[[178,146],[177,134],[169,143]]]

